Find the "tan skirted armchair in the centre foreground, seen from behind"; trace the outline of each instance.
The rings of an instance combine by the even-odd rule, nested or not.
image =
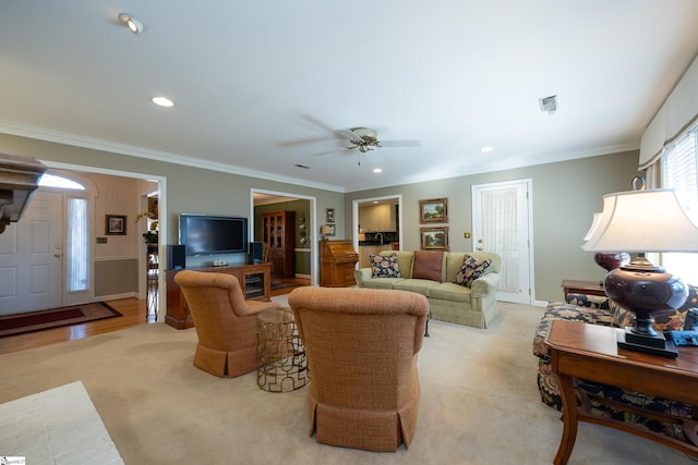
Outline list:
[[[408,448],[417,425],[429,303],[420,294],[300,287],[288,298],[312,381],[310,436],[369,451]]]

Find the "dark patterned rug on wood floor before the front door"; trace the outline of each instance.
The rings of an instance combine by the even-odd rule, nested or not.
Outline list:
[[[120,316],[119,311],[104,302],[5,315],[0,317],[0,338]]]

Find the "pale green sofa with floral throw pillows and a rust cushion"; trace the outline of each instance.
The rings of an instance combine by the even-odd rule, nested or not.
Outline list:
[[[422,294],[430,318],[474,328],[486,328],[497,315],[497,254],[383,250],[370,258],[371,267],[354,270],[359,287]]]

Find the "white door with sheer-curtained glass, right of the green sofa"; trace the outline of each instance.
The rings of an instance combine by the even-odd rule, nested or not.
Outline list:
[[[502,257],[497,301],[531,303],[531,180],[472,186],[476,250]]]

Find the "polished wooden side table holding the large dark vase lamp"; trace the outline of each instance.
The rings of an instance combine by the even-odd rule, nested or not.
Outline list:
[[[577,321],[551,322],[545,345],[550,348],[552,371],[559,379],[564,421],[555,464],[564,465],[569,460],[579,420],[631,432],[698,456],[698,444],[631,424],[593,416],[585,403],[577,405],[577,378],[698,405],[698,347],[679,347],[676,359],[625,351],[617,347],[617,333],[621,331],[619,328]],[[669,416],[664,417],[670,419]],[[695,432],[696,420],[676,417],[671,417],[671,420],[683,424],[684,431]]]

